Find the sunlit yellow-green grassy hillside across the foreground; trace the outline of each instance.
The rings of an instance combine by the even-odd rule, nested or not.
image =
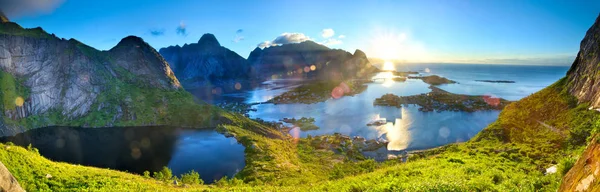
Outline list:
[[[562,175],[598,131],[598,115],[577,104],[564,81],[507,106],[473,140],[415,154],[408,163],[374,163],[285,138],[228,115],[221,126],[246,146],[238,178],[182,188],[143,176],[45,160],[35,150],[0,147],[0,161],[28,190],[556,191]],[[283,138],[283,139],[280,139]],[[559,164],[559,171],[543,170]],[[46,173],[53,177],[44,179]],[[245,182],[242,183],[240,180]]]

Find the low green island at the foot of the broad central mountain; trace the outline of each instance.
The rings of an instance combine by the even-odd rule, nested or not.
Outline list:
[[[370,80],[355,79],[344,82],[316,81],[301,85],[268,102],[273,104],[303,103],[312,104],[326,101],[329,98],[341,98],[362,93],[367,89],[365,83]]]

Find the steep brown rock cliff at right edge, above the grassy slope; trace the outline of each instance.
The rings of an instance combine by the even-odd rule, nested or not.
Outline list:
[[[581,41],[577,58],[567,72],[569,92],[580,102],[600,108],[600,17]]]

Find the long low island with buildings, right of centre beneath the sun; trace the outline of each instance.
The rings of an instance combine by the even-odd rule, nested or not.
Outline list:
[[[419,111],[465,111],[475,112],[482,110],[502,110],[510,103],[502,98],[495,98],[487,95],[460,95],[444,91],[440,88],[429,86],[431,92],[412,96],[396,96],[385,94],[375,99],[373,105],[394,106],[416,104],[421,106]]]

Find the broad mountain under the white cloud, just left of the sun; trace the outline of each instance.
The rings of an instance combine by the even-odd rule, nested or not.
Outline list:
[[[248,56],[254,75],[340,80],[360,77],[374,68],[364,52],[330,49],[313,41],[254,49]],[[314,66],[314,70],[311,67]]]

